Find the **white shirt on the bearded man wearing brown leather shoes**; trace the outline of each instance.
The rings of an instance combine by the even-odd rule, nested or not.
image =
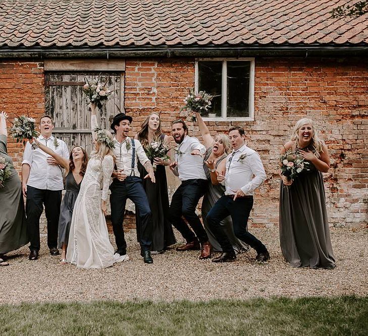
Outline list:
[[[206,180],[206,174],[203,169],[203,158],[199,155],[191,155],[195,149],[200,154],[204,154],[206,148],[197,138],[185,136],[183,142],[177,147],[179,153],[175,154],[175,160],[178,162],[178,173],[181,181],[191,179]]]

